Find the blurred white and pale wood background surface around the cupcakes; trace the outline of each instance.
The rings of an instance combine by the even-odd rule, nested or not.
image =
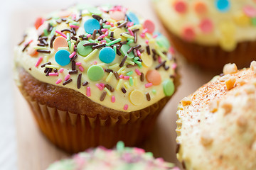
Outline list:
[[[2,54],[0,69],[3,73],[1,79],[4,81],[0,85],[0,169],[45,169],[56,159],[68,156],[68,154],[50,145],[33,123],[28,106],[12,79],[12,58],[14,46],[21,40],[24,30],[32,26],[38,16],[75,3],[127,6],[145,18],[148,18],[148,15],[151,16],[152,21],[156,22],[156,27],[166,34],[154,13],[150,0],[1,1],[0,43]],[[186,64],[182,58],[179,58],[179,62],[179,73],[183,75],[181,78],[182,86],[179,87],[168,107],[164,109],[149,140],[143,146],[139,146],[146,151],[153,152],[156,157],[164,157],[166,161],[177,164],[175,121],[178,101],[191,94],[212,77],[212,74],[202,73],[196,67]],[[198,78],[198,74],[201,74],[200,78]]]

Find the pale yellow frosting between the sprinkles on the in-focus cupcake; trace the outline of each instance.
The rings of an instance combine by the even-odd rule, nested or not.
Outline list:
[[[66,24],[64,21],[62,23],[56,23],[54,20],[56,17],[58,18],[60,15],[65,16],[67,13],[71,13],[72,15],[75,15],[78,18],[78,16],[80,15],[80,11],[78,10],[78,8],[81,8],[81,6],[79,6],[79,7],[74,6],[72,8],[68,8],[66,11],[57,11],[55,13],[51,13],[50,17],[52,17],[52,18],[48,21],[45,21],[43,23],[43,25],[38,28],[38,30],[36,30],[36,28],[29,28],[26,31],[27,36],[26,36],[25,41],[21,45],[17,46],[15,49],[16,68],[23,67],[24,69],[26,69],[26,71],[29,74],[31,74],[33,77],[35,77],[39,81],[43,81],[48,84],[54,84],[56,86],[74,89],[75,91],[79,91],[80,93],[84,94],[85,96],[87,96],[87,87],[90,87],[91,95],[87,96],[88,98],[90,98],[92,101],[94,101],[96,103],[100,103],[102,106],[106,106],[108,108],[113,108],[117,111],[126,111],[126,112],[137,111],[137,110],[140,110],[142,108],[145,108],[147,106],[150,106],[150,105],[156,103],[161,98],[164,98],[164,96],[166,96],[166,95],[164,94],[164,89],[163,89],[162,84],[159,84],[157,86],[150,86],[149,88],[145,88],[145,84],[149,84],[149,82],[146,81],[146,77],[145,77],[146,72],[150,69],[155,69],[155,67],[157,65],[159,65],[158,60],[156,60],[156,61],[153,60],[152,51],[151,51],[151,55],[147,55],[146,40],[148,40],[148,45],[149,45],[150,49],[151,50],[155,49],[156,52],[158,52],[158,55],[161,56],[161,61],[166,60],[166,67],[167,66],[170,67],[168,70],[165,70],[164,67],[160,67],[160,69],[158,69],[158,72],[161,74],[162,82],[164,82],[164,80],[166,80],[166,79],[173,81],[173,78],[170,78],[170,76],[171,75],[174,76],[176,64],[174,63],[174,60],[169,60],[169,58],[171,58],[170,53],[168,55],[164,55],[162,53],[162,52],[169,51],[169,49],[167,48],[168,45],[161,44],[161,42],[160,42],[161,40],[159,40],[160,38],[164,38],[163,35],[159,35],[157,38],[153,38],[153,35],[151,33],[146,33],[145,38],[142,38],[140,36],[142,34],[142,31],[144,30],[144,28],[142,26],[142,23],[144,22],[144,20],[142,18],[139,18],[139,22],[140,22],[139,24],[131,27],[131,29],[139,28],[139,31],[137,32],[137,35],[138,35],[137,43],[130,44],[131,47],[134,47],[136,45],[142,45],[142,47],[140,48],[140,49],[144,49],[144,52],[142,52],[142,56],[141,56],[142,61],[143,61],[142,67],[135,66],[135,67],[127,68],[126,67],[127,64],[134,64],[133,60],[129,60],[129,59],[127,59],[127,61],[124,63],[124,67],[119,67],[119,64],[122,61],[122,58],[124,57],[124,55],[121,55],[121,56],[116,55],[114,61],[111,62],[110,64],[104,63],[104,62],[100,61],[100,59],[98,57],[99,52],[102,48],[99,48],[98,50],[91,52],[86,57],[82,57],[77,52],[76,54],[78,55],[78,58],[75,60],[75,62],[80,62],[81,66],[84,69],[84,71],[81,71],[80,69],[78,69],[78,66],[76,66],[76,69],[78,70],[78,74],[82,73],[81,82],[84,82],[84,81],[89,82],[89,84],[87,86],[82,86],[82,84],[81,84],[80,89],[77,88],[78,74],[70,74],[70,78],[73,79],[73,81],[71,81],[70,83],[63,86],[63,81],[65,81],[64,80],[65,76],[71,70],[71,62],[70,62],[70,64],[68,64],[64,67],[60,66],[55,61],[56,51],[53,50],[53,48],[50,48],[49,46],[46,47],[46,49],[50,50],[50,54],[39,52],[39,54],[36,55],[35,57],[31,57],[31,55],[28,55],[29,50],[33,50],[33,48],[37,47],[36,44],[38,43],[38,35],[41,35],[41,33],[43,33],[43,28],[47,28],[48,23],[54,24],[55,25],[54,27],[58,31],[63,30],[65,28],[70,29],[70,26],[68,24]],[[102,7],[102,8],[109,9],[110,7]],[[96,8],[96,9],[99,10],[100,8]],[[125,10],[125,9],[123,8],[123,10]],[[110,30],[114,31],[114,34],[116,34],[117,36],[120,36],[120,33],[124,33],[127,31],[124,28],[117,28],[117,21],[114,21],[110,17],[110,13],[102,13],[100,15],[106,21],[109,21],[110,23],[114,23],[114,28],[110,28]],[[69,16],[67,18],[67,21],[71,20],[71,16]],[[87,33],[85,33],[83,24],[85,23],[85,21],[87,21],[90,18],[92,18],[92,13],[90,13],[90,10],[88,11],[87,9],[83,8],[82,20],[78,22],[78,26],[80,26],[80,28],[76,29],[77,35],[75,37],[78,38],[78,36],[82,35],[82,34],[87,35]],[[124,21],[119,21],[119,22],[122,23]],[[56,35],[56,37],[60,36],[58,33],[54,33],[54,35]],[[97,33],[96,38],[98,38],[99,36],[100,35]],[[50,38],[51,38],[50,35],[48,35],[48,43],[49,44],[50,44]],[[108,38],[110,38],[110,37],[108,37]],[[114,38],[116,38],[116,37],[114,37]],[[117,37],[117,38],[119,38],[119,37]],[[78,39],[81,40],[80,38],[78,38]],[[90,39],[91,38],[89,38],[89,40]],[[127,38],[124,38],[124,36],[122,36],[122,39],[127,40]],[[26,50],[24,52],[22,52],[24,45],[26,45],[26,43],[29,42],[30,40],[33,40],[33,42],[31,42],[31,44],[28,45]],[[158,41],[160,42],[160,44]],[[69,49],[67,49],[67,50],[68,50],[68,52],[70,52]],[[72,51],[70,52],[70,54],[72,53]],[[36,62],[38,62],[39,57],[43,57],[43,61],[41,62],[41,64],[44,64],[46,62],[51,62],[50,66],[53,66],[54,68],[58,69],[58,77],[56,77],[56,76],[46,77],[46,73],[44,73],[44,70],[46,69],[46,67],[42,68],[41,64],[39,64],[39,67],[35,67],[35,64],[36,64]],[[157,57],[157,55],[156,55],[156,57]],[[91,81],[87,76],[87,69],[90,66],[92,66],[93,64],[97,64],[100,67],[102,67],[103,69],[112,69],[113,71],[118,72],[119,75],[122,74],[124,76],[126,76],[126,74],[128,72],[132,71],[133,73],[130,75],[130,77],[132,77],[132,80],[131,80],[132,82],[130,82],[129,79],[117,80],[113,73],[108,73],[108,72],[104,73],[104,77],[102,79],[100,79],[100,81]],[[59,72],[61,68],[64,69],[64,71],[62,73]],[[135,72],[135,69],[139,69],[139,72],[144,73],[144,77],[145,77],[144,81],[141,81],[141,77],[139,75],[137,75],[137,73]],[[56,84],[56,81],[58,81],[58,79],[61,79],[62,82],[60,82],[59,84]],[[114,88],[114,91],[111,92],[106,87],[103,87],[103,90],[100,90],[96,86],[96,84],[101,84],[101,83],[109,84],[110,86],[112,86],[112,88]],[[122,92],[122,88],[124,88],[127,91],[125,94]],[[100,97],[102,96],[103,91],[106,91],[107,95],[105,96],[103,101],[100,101]],[[148,99],[146,98],[146,93],[149,93],[150,101],[148,101]],[[132,94],[132,96],[131,96],[131,94]],[[139,96],[138,96],[139,101],[138,101],[138,98],[136,98],[136,96],[134,96],[134,94],[135,95],[139,94]],[[112,102],[112,96],[114,96],[114,98],[115,98],[114,103]],[[130,101],[131,98],[132,98],[132,102]],[[125,110],[125,109],[127,109],[127,110]]]

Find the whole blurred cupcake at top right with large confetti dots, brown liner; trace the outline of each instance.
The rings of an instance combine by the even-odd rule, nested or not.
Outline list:
[[[221,70],[229,62],[243,68],[255,60],[255,1],[154,0],[154,7],[188,62]]]

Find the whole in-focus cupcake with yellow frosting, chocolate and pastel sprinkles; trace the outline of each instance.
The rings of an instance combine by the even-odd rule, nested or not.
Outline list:
[[[122,6],[37,18],[15,52],[16,83],[39,128],[68,152],[142,142],[178,86],[168,40]]]

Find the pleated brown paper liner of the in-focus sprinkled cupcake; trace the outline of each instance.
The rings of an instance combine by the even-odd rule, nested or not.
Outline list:
[[[127,146],[142,142],[154,128],[157,116],[169,101],[166,97],[147,108],[129,113],[129,116],[108,116],[102,119],[100,113],[90,118],[51,108],[33,101],[30,96],[25,98],[43,134],[53,144],[70,153],[99,145],[111,148],[119,140]]]

